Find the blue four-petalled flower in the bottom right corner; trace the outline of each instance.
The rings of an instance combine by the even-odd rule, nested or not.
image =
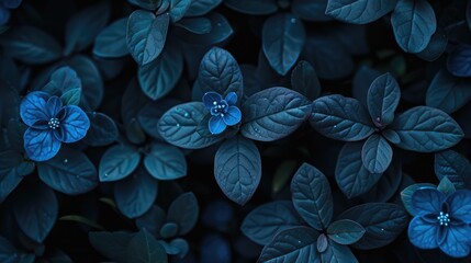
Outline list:
[[[408,239],[419,249],[440,248],[455,258],[467,256],[471,244],[471,191],[449,196],[435,188],[417,190],[412,195],[416,215],[408,225]]]

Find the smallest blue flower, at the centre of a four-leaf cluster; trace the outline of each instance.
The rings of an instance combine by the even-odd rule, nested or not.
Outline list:
[[[237,94],[229,92],[223,98],[216,92],[206,92],[203,95],[204,106],[213,115],[210,118],[209,127],[210,133],[217,135],[224,132],[227,126],[234,126],[240,122],[242,113],[235,103],[237,102]]]

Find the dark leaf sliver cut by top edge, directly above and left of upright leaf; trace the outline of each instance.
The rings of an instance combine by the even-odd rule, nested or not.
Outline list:
[[[225,0],[224,3],[237,12],[254,15],[271,14],[278,10],[274,0]]]

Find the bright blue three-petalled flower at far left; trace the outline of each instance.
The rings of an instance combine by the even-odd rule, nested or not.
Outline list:
[[[24,133],[24,149],[30,159],[46,161],[60,149],[61,142],[75,142],[87,135],[90,121],[78,106],[63,106],[57,96],[35,91],[20,105],[20,116],[29,126]]]

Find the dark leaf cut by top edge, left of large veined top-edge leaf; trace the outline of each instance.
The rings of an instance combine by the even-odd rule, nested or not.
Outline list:
[[[294,0],[291,3],[291,11],[302,20],[313,22],[330,21],[332,18],[325,14],[327,0]]]

